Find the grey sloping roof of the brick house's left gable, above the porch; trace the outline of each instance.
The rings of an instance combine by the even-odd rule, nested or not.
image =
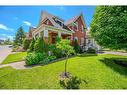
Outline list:
[[[46,12],[46,11],[42,11],[42,12],[41,12],[41,17],[40,17],[40,21],[39,21],[39,25],[38,25],[38,26],[40,26],[41,23],[42,23],[43,21],[45,21],[46,19],[49,19],[49,20],[51,21],[51,23],[53,24],[53,26],[56,27],[56,28],[70,30],[70,29],[64,24],[64,20],[63,20],[63,19],[59,18],[58,16],[54,16],[54,15],[52,15],[52,14]],[[57,20],[56,20],[56,19],[57,19]],[[60,22],[62,22],[63,24],[60,24],[60,23],[58,22],[58,20],[59,20]],[[70,31],[71,31],[71,30],[70,30]]]

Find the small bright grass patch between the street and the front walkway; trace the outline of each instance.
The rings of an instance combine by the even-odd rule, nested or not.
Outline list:
[[[9,63],[12,63],[12,62],[22,61],[22,60],[24,60],[26,55],[27,55],[27,52],[9,54],[1,64],[9,64]]]

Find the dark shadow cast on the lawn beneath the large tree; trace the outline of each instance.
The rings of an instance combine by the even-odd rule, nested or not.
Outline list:
[[[121,62],[124,62],[124,64]],[[104,58],[100,60],[112,70],[121,75],[127,76],[127,59],[126,58]],[[126,64],[125,64],[126,63]]]

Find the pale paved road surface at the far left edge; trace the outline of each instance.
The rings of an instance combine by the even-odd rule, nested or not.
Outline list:
[[[8,45],[0,46],[0,63],[11,53],[12,48],[9,48]]]

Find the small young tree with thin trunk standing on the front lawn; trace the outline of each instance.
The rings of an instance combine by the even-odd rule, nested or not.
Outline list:
[[[68,77],[67,75],[67,61],[68,57],[72,54],[75,53],[74,49],[72,46],[70,46],[70,41],[69,40],[61,40],[59,43],[56,43],[56,48],[60,49],[66,56],[66,62],[65,62],[65,72],[64,75]]]

